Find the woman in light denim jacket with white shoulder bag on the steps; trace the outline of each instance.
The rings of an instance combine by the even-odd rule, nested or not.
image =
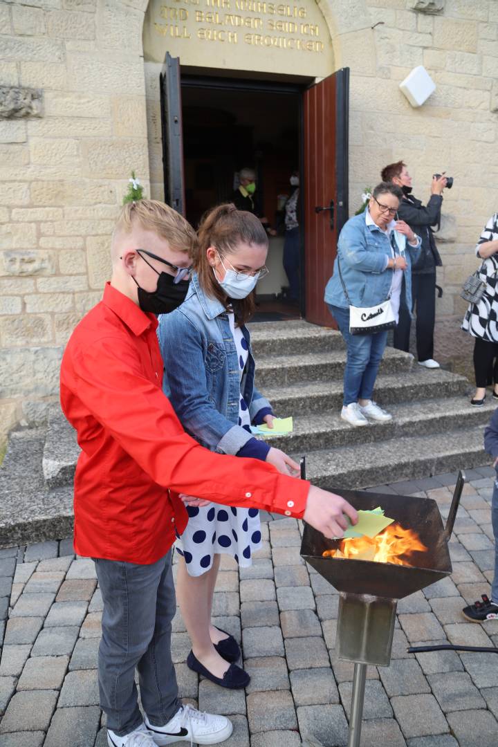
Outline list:
[[[403,220],[393,220],[402,196],[399,187],[381,182],[373,190],[365,211],[347,221],[339,235],[334,274],[325,289],[326,303],[347,348],[340,417],[353,426],[368,425],[369,420],[382,423],[392,419],[389,412],[372,400],[387,330],[373,335],[352,335],[349,303],[369,307],[390,298],[396,320],[400,300],[411,309],[410,268],[412,257],[416,259],[419,253],[420,238]]]

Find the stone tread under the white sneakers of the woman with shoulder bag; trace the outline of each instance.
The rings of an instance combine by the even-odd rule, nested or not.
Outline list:
[[[320,415],[298,415],[293,418],[293,433],[268,438],[267,443],[286,453],[306,453],[342,446],[369,444],[405,436],[426,436],[488,424],[494,404],[471,407],[468,397],[403,402],[389,406],[393,420],[355,428],[340,418],[340,408]],[[392,440],[391,440],[391,447]],[[396,445],[393,447],[396,448]]]

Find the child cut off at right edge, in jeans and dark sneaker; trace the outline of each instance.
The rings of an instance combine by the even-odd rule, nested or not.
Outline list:
[[[491,599],[487,594],[481,595],[481,601],[464,607],[464,616],[472,622],[485,622],[498,618],[498,409],[484,432],[484,447],[494,459],[495,470],[493,495],[491,497],[491,522],[494,536],[494,576],[491,583]]]

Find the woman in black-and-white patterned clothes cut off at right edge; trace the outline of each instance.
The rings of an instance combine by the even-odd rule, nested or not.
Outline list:
[[[486,223],[476,255],[483,260],[479,278],[486,289],[479,303],[470,304],[461,329],[475,338],[476,394],[470,404],[482,407],[488,384],[493,384],[493,397],[498,400],[498,213]]]

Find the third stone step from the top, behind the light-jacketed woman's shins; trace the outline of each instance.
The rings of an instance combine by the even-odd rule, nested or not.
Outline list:
[[[376,380],[375,397],[381,406],[427,400],[432,397],[456,397],[469,385],[464,376],[417,366],[409,373],[380,375]],[[342,379],[327,382],[305,382],[280,387],[265,387],[263,394],[279,417],[310,415],[340,409],[343,402]]]

